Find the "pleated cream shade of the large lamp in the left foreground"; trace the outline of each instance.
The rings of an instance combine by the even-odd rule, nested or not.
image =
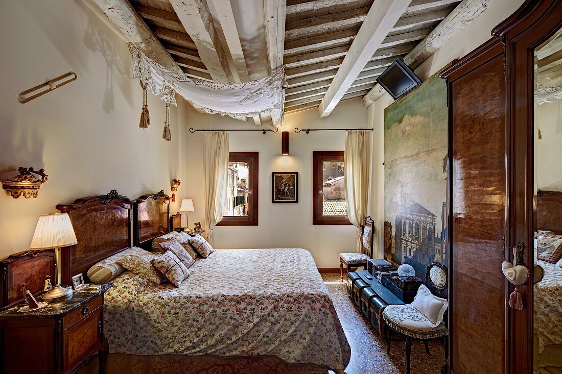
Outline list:
[[[40,215],[30,249],[67,247],[78,243],[68,213]]]

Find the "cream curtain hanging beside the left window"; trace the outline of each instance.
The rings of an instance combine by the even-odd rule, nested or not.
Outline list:
[[[205,229],[207,241],[212,246],[212,230],[226,211],[228,131],[205,133],[203,168],[205,170]]]

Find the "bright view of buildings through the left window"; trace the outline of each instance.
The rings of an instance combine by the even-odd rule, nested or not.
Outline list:
[[[228,191],[225,217],[248,216],[250,168],[247,162],[228,163]]]

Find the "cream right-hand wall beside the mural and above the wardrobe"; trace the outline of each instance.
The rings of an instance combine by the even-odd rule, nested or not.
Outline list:
[[[436,74],[443,67],[448,65],[455,59],[464,57],[472,52],[479,45],[483,44],[491,38],[492,29],[501,21],[505,20],[514,13],[524,0],[496,0],[473,22],[470,22],[463,30],[459,31],[454,37],[448,40],[445,45],[437,49],[431,56],[425,60],[422,65],[415,69],[416,75],[425,81],[428,77]],[[392,104],[392,97],[384,93],[380,98],[369,106],[369,124],[374,128],[374,152],[373,152],[373,200],[371,211],[373,211],[373,220],[377,225],[379,244],[379,256],[383,255],[383,135],[384,135],[384,109]],[[376,135],[378,134],[379,137]],[[377,143],[379,140],[379,143]]]

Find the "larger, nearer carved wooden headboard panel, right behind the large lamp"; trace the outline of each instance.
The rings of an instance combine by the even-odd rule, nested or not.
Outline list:
[[[107,195],[90,196],[57,209],[69,213],[78,244],[62,248],[62,282],[82,273],[87,279],[90,267],[104,258],[129,248],[134,201],[116,190]]]

